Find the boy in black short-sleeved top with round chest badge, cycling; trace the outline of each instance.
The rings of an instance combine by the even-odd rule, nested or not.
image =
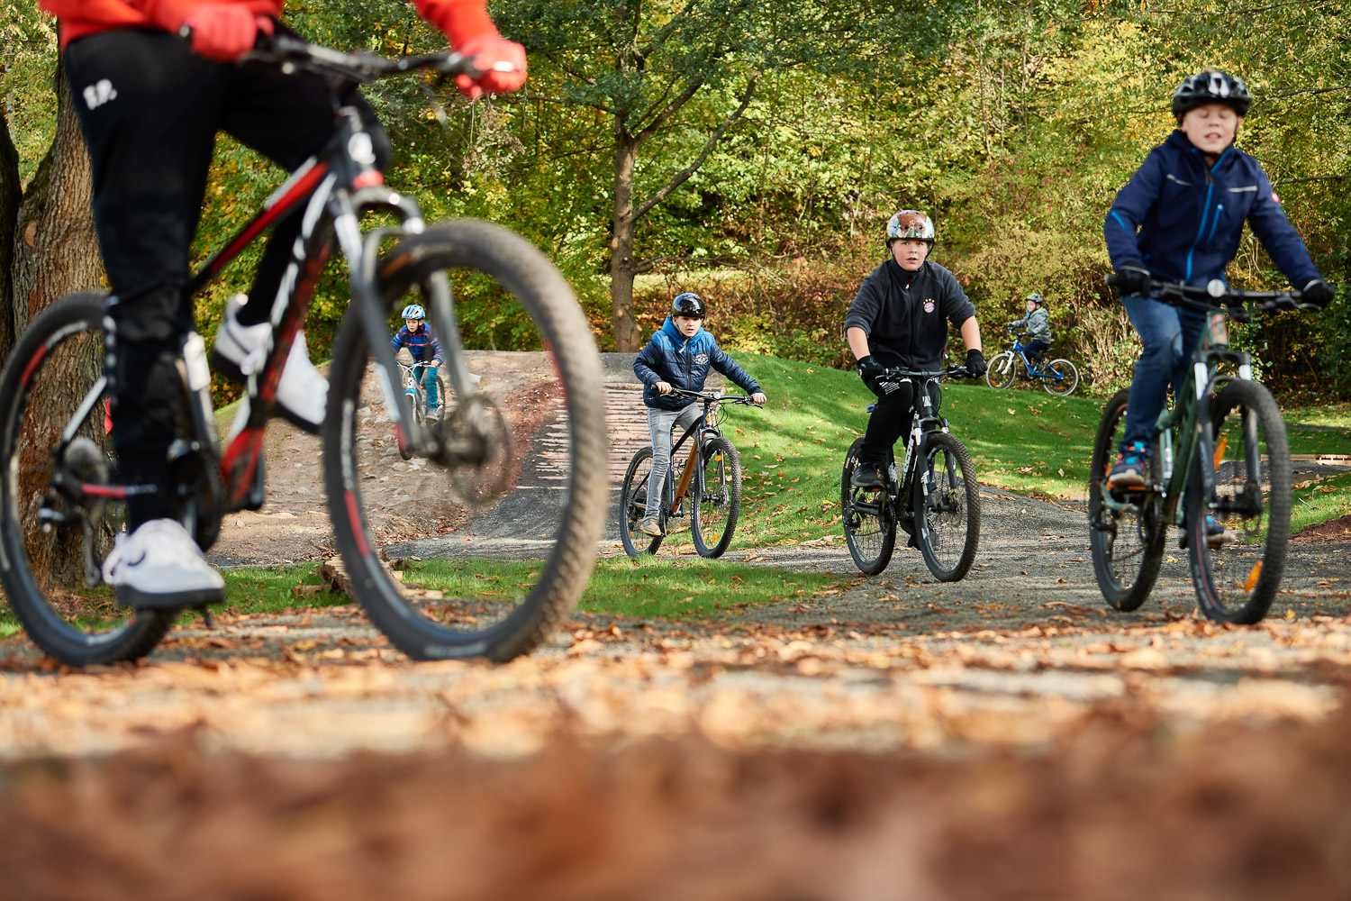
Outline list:
[[[851,480],[857,488],[882,488],[892,446],[902,435],[909,440],[909,413],[919,400],[915,382],[878,381],[888,369],[942,369],[951,323],[966,344],[971,376],[986,370],[975,305],[952,273],[928,259],[932,247],[932,219],[917,209],[892,216],[886,223],[889,258],[863,280],[844,317],[844,336],[858,359],[858,374],[877,394]],[[936,411],[942,397],[938,385],[932,390]]]

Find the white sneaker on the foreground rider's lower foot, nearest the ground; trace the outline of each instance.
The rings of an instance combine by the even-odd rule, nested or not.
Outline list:
[[[134,608],[200,607],[226,600],[226,581],[177,520],[153,519],[119,535],[103,562],[103,581]]]

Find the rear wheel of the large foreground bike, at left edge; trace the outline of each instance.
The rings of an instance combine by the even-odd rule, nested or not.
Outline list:
[[[61,488],[118,481],[103,378],[105,301],[88,292],[43,309],[0,374],[0,581],[34,644],[69,666],[139,658],[177,615],[119,607],[97,575],[89,584],[124,528],[126,501]],[[0,627],[5,619],[0,613]]]

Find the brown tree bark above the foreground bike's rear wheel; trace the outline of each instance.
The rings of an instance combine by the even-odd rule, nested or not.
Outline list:
[[[89,154],[59,62],[55,89],[57,134],[19,205],[8,323],[15,338],[53,300],[103,281]]]

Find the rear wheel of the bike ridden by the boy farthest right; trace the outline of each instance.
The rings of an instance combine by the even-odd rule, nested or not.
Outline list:
[[[1132,492],[1131,504],[1112,509],[1102,500],[1104,482],[1116,448],[1125,432],[1125,404],[1129,390],[1112,396],[1102,411],[1093,461],[1089,470],[1089,554],[1102,597],[1119,611],[1133,611],[1144,602],[1159,577],[1167,524],[1156,490]],[[1155,454],[1151,470],[1158,459]],[[1152,473],[1151,473],[1152,475]],[[1151,478],[1151,482],[1156,480]]]

